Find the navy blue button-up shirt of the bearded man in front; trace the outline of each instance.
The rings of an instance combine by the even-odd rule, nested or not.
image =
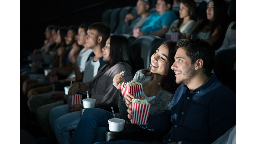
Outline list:
[[[171,103],[164,113],[149,115],[148,123],[140,125],[150,131],[170,129],[164,144],[211,144],[236,124],[236,95],[215,74],[192,92],[180,85]]]

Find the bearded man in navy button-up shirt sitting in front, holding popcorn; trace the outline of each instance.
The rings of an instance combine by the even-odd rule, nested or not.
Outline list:
[[[176,44],[176,90],[171,106],[156,115],[149,114],[142,128],[170,132],[162,142],[151,144],[211,144],[236,124],[236,95],[215,74],[211,74],[214,50],[201,39],[188,39]],[[132,119],[131,105],[128,118]],[[132,121],[131,121],[132,122]],[[78,126],[79,127],[79,126]],[[95,144],[146,144],[129,140]]]

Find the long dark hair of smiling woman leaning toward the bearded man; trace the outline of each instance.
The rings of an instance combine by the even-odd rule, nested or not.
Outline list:
[[[168,60],[167,60],[167,66],[166,66],[166,73],[161,79],[161,87],[170,92],[175,93],[176,89],[179,87],[179,84],[176,84],[175,80],[175,73],[171,69],[172,64],[175,62],[174,56],[176,54],[175,45],[176,42],[173,42],[171,40],[164,41],[161,45],[166,45],[169,49],[168,53]],[[146,76],[154,75],[154,73],[151,73],[149,70],[142,70],[142,73]]]

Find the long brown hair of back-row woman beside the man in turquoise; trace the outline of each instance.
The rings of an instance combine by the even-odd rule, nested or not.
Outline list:
[[[196,19],[196,2],[194,0],[184,0],[182,3],[188,7],[188,15],[190,20]],[[179,18],[177,28],[180,28],[184,18]]]

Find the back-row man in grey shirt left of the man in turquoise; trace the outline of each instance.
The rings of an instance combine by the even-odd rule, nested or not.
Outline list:
[[[142,24],[150,17],[149,7],[150,7],[150,3],[148,0],[147,1],[138,0],[136,10],[137,10],[137,14],[140,17],[138,17],[133,23],[129,25],[129,21],[134,19],[135,16],[133,16],[130,13],[128,13],[125,16],[124,24],[123,24],[123,29],[125,29],[125,33],[132,34],[133,29],[140,28],[142,26]]]

